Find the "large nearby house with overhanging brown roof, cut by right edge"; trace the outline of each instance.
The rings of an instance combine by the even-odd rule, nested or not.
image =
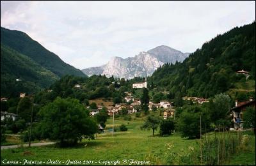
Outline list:
[[[236,100],[236,107],[230,110],[232,126],[236,130],[243,130],[243,113],[247,107],[255,107],[255,100],[253,100],[252,97],[250,97],[250,100],[246,102],[238,102],[238,100]]]

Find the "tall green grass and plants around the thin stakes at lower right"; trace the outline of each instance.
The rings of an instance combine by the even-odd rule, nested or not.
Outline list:
[[[219,126],[219,132],[210,132],[204,127],[202,139],[196,140],[197,146],[173,151],[175,144],[166,144],[166,163],[170,165],[223,165],[239,151],[246,151],[248,134],[241,131],[227,131]]]

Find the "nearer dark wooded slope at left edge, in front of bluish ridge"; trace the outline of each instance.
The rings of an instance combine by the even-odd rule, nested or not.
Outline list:
[[[57,79],[54,73],[29,57],[1,44],[1,96],[19,96],[21,92],[38,91]]]

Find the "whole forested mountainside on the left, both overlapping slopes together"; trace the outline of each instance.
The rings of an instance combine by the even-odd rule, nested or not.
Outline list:
[[[1,96],[39,91],[64,75],[86,77],[26,33],[1,27]]]

